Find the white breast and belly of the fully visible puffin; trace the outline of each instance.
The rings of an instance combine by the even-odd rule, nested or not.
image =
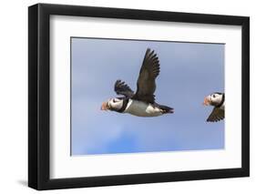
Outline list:
[[[124,113],[129,113],[138,117],[157,117],[162,115],[159,107],[153,107],[142,101],[129,99],[128,106]]]

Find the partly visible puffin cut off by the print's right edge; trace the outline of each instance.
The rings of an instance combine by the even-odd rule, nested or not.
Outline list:
[[[218,122],[225,117],[225,94],[215,92],[204,98],[203,105],[213,106],[207,122]]]

